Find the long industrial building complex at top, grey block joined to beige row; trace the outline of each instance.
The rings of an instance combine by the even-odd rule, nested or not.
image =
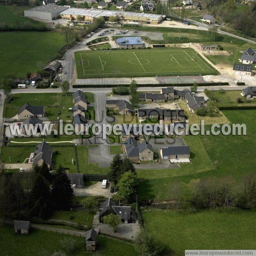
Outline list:
[[[151,23],[158,24],[166,16],[150,14],[150,13],[139,13],[139,12],[122,12],[122,11],[110,11],[100,9],[83,9],[83,8],[70,8],[69,6],[37,6],[24,11],[26,17],[36,17],[48,20],[54,20],[56,18],[63,18],[71,20],[72,17],[77,20],[78,16],[82,16],[84,21],[92,22],[98,17],[104,17],[105,21],[109,20],[109,17],[116,17],[117,20],[136,22],[136,23]]]

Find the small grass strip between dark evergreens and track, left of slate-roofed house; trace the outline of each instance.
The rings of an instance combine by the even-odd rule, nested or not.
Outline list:
[[[70,219],[71,215],[74,217],[73,219]],[[55,211],[51,218],[87,225],[89,230],[93,224],[93,215],[93,212],[88,211]]]

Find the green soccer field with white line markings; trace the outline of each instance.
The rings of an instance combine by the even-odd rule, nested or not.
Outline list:
[[[214,75],[192,49],[131,49],[76,52],[78,78]]]

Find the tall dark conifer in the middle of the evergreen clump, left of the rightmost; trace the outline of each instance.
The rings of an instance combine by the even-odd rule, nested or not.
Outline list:
[[[32,216],[49,218],[52,215],[50,187],[42,175],[37,175],[30,196]]]

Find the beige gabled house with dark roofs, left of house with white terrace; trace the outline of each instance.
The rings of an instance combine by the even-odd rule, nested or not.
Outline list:
[[[151,144],[145,141],[140,145],[132,137],[125,141],[125,153],[130,160],[150,161],[154,158],[154,150]]]

